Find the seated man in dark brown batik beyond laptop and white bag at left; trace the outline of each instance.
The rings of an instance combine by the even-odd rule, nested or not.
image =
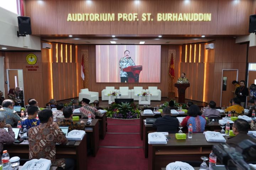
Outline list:
[[[71,107],[66,107],[63,109],[64,119],[59,121],[59,126],[69,126],[69,132],[71,130],[85,130],[85,122],[80,121],[80,124],[73,122],[73,109]]]

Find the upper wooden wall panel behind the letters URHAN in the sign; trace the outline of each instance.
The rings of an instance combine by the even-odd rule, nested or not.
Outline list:
[[[164,13],[191,13],[191,1],[165,0]],[[165,21],[164,34],[190,34],[190,21]]]

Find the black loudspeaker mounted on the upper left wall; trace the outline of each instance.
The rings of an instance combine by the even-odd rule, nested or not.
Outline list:
[[[18,36],[26,36],[32,34],[30,17],[18,16]]]

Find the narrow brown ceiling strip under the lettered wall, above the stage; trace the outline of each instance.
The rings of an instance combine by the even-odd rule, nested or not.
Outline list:
[[[44,39],[50,42],[62,42],[67,44],[111,44],[110,41],[116,41],[117,44],[139,44],[145,41],[145,44],[190,44],[197,42],[208,42],[210,39],[141,39],[141,40],[124,40],[124,39],[84,39],[84,38],[65,38],[65,39]]]

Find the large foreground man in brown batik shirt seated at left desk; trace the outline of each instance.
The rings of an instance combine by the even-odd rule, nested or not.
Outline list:
[[[56,159],[56,143],[65,145],[68,140],[58,124],[53,121],[52,111],[44,109],[38,113],[38,117],[40,125],[28,131],[29,159],[49,159],[52,166],[64,169],[74,167],[74,162],[70,159]]]

